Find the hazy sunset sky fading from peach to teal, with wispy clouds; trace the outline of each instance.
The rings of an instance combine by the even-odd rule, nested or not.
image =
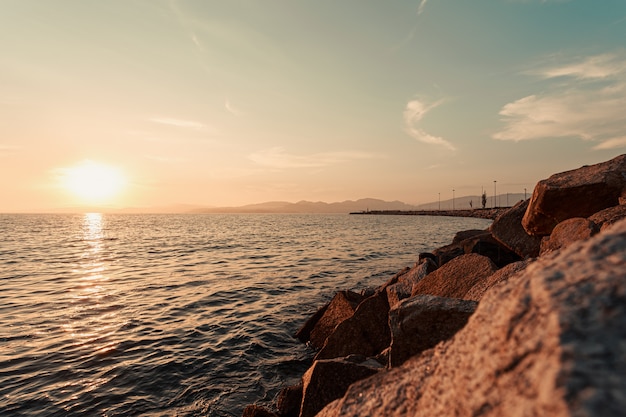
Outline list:
[[[421,204],[626,153],[626,0],[0,9],[0,212]]]

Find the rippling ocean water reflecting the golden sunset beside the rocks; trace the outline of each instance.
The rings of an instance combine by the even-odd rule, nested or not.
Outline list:
[[[296,383],[293,334],[482,219],[0,214],[0,415],[240,416]]]

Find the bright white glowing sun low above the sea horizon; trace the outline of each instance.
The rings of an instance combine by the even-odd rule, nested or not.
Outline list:
[[[63,188],[83,203],[111,203],[126,186],[126,177],[114,166],[86,160],[62,170]]]

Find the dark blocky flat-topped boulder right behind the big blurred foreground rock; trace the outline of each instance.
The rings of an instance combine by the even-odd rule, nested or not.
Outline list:
[[[401,365],[459,331],[476,310],[475,301],[418,295],[389,311],[389,366]]]

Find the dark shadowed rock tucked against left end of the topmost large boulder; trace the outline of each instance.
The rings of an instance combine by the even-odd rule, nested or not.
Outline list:
[[[522,218],[530,200],[517,203],[509,210],[500,214],[489,226],[493,237],[505,247],[523,259],[539,255],[541,238],[526,233],[522,226]]]

